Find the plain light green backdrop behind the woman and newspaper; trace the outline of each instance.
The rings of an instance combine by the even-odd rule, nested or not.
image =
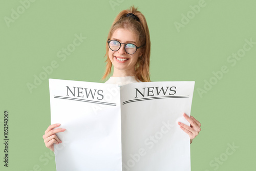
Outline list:
[[[227,59],[242,52],[245,39],[256,42],[256,2],[205,0],[193,16],[190,6],[199,2],[47,0],[22,11],[19,1],[0,1],[0,123],[3,130],[8,110],[10,139],[6,168],[0,131],[1,170],[56,169],[54,158],[44,157],[50,150],[42,139],[50,125],[48,78],[99,82],[106,36],[115,16],[131,5],[145,15],[150,29],[152,81],[196,81],[191,115],[202,131],[191,144],[191,170],[255,169],[256,45],[236,65]],[[5,18],[11,18],[12,9],[20,14],[8,27]],[[175,22],[182,22],[182,14],[190,19],[178,30]],[[75,34],[87,39],[61,61],[58,51],[72,44]],[[58,67],[31,93],[27,83],[54,60]],[[212,72],[223,66],[228,72],[214,78]],[[215,82],[200,95],[206,81]],[[232,155],[226,155],[228,143],[237,146]]]

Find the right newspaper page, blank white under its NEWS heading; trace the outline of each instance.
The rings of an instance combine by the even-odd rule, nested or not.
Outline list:
[[[194,81],[142,82],[120,88],[123,171],[190,170],[189,125]]]

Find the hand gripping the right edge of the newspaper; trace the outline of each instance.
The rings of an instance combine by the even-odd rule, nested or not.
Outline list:
[[[180,128],[189,135],[190,138],[190,144],[192,143],[192,140],[199,134],[199,132],[201,131],[201,123],[195,119],[193,116],[190,115],[187,116],[185,113],[183,114],[183,116],[185,117],[185,119],[190,123],[190,126],[178,122],[178,124],[180,125]]]

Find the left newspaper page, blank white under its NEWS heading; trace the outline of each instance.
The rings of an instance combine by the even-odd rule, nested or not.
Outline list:
[[[113,84],[49,79],[51,124],[66,131],[54,144],[56,168],[120,171],[119,87]]]

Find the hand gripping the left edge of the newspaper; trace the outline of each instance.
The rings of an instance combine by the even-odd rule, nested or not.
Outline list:
[[[53,144],[59,144],[62,141],[57,137],[56,133],[64,132],[66,129],[54,129],[55,127],[58,127],[60,124],[55,123],[48,127],[48,129],[45,131],[45,135],[42,136],[45,140],[45,144],[47,148],[50,148],[51,151],[54,152],[54,146]],[[54,129],[54,130],[53,130]]]

